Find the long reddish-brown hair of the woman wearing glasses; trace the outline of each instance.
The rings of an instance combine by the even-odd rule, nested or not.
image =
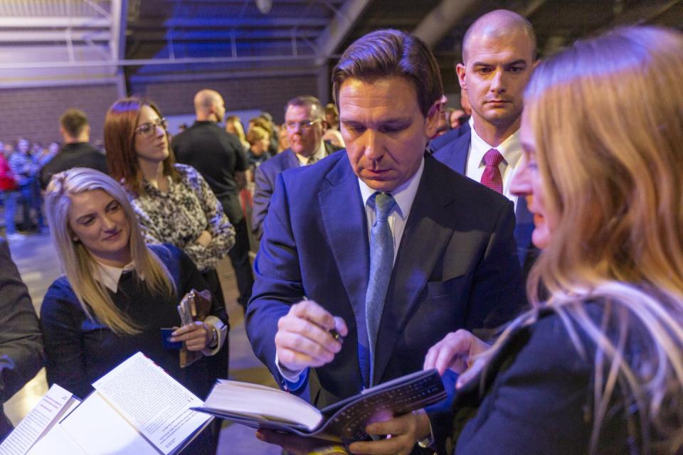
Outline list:
[[[129,190],[142,193],[142,171],[135,151],[135,128],[143,106],[151,107],[162,117],[159,107],[150,100],[139,97],[123,98],[115,102],[105,117],[105,149],[107,150],[107,167],[110,175]],[[168,132],[166,132],[168,134]],[[164,160],[164,175],[180,181],[174,168],[176,160],[172,150]]]

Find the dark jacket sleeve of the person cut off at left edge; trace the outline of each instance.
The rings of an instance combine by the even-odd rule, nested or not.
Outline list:
[[[43,335],[26,284],[0,238],[0,396],[4,403],[43,366]],[[0,441],[12,424],[0,413]]]

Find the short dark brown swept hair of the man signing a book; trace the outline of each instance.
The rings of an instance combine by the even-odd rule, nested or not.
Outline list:
[[[332,70],[334,101],[339,107],[339,88],[346,79],[366,82],[384,77],[403,77],[418,95],[420,111],[427,117],[443,95],[441,73],[434,54],[420,38],[398,30],[378,30],[354,41]]]

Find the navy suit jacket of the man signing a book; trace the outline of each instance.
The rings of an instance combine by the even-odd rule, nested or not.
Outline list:
[[[497,326],[517,313],[524,293],[513,230],[509,200],[425,155],[378,331],[375,384],[421,370],[446,333]],[[274,336],[290,305],[307,296],[346,321],[342,350],[309,378],[318,407],[363,387],[356,328],[364,323],[356,318],[364,314],[369,257],[364,204],[346,153],[277,177],[246,328],[254,352],[283,384]],[[445,439],[448,417],[432,422]]]

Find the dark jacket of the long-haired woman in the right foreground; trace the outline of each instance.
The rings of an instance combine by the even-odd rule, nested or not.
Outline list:
[[[600,326],[601,309],[590,303],[586,309]],[[456,394],[455,454],[588,453],[595,343],[583,329],[576,327],[576,333],[586,357],[579,355],[560,316],[549,310],[541,310],[538,321],[512,333],[492,358],[485,378],[473,378]],[[642,343],[631,346],[638,349]],[[605,376],[608,368],[605,358]],[[618,385],[614,397],[623,399]],[[624,407],[610,405],[597,453],[633,453]]]

